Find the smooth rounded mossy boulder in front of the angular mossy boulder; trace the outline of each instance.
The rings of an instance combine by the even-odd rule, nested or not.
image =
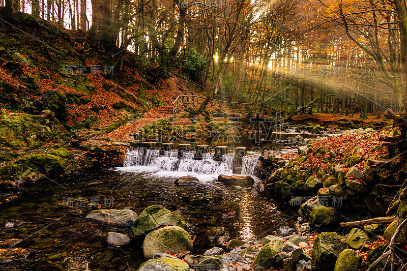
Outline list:
[[[147,234],[143,242],[144,257],[151,259],[154,253],[184,253],[192,250],[191,236],[178,226],[168,226]]]

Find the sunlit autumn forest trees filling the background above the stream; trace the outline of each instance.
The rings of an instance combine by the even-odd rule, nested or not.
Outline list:
[[[401,0],[0,5],[11,23],[11,14],[21,11],[86,32],[85,52],[108,57],[116,69],[126,54],[142,59],[137,65],[156,87],[171,70],[205,86],[207,99],[196,113],[219,95],[252,103],[248,115],[305,111],[312,102],[317,112],[361,112],[364,118],[407,105],[407,12]]]

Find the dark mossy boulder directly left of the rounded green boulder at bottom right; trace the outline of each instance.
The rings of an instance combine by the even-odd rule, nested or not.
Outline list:
[[[312,249],[312,260],[316,270],[333,270],[339,253],[344,246],[336,232],[323,232],[316,236]]]

